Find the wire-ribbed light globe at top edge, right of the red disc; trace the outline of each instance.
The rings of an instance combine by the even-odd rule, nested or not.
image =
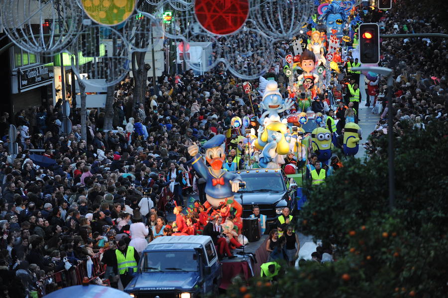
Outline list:
[[[253,0],[250,18],[266,35],[290,39],[308,25],[313,8],[311,0]]]

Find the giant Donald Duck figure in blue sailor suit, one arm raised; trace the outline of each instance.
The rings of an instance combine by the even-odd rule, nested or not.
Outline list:
[[[188,147],[188,154],[193,156],[193,168],[206,179],[205,193],[207,201],[204,203],[206,209],[213,206],[218,208],[224,202],[236,210],[235,217],[242,214],[242,206],[233,199],[233,193],[238,192],[241,177],[238,174],[225,171],[223,163],[225,159],[225,136],[218,134],[204,143],[206,149],[206,160],[210,164],[207,167],[202,155],[199,154],[198,145]],[[231,203],[230,203],[231,202]]]

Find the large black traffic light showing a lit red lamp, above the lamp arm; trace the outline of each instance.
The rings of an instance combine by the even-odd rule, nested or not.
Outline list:
[[[359,25],[359,56],[361,63],[379,62],[379,27],[376,23]]]

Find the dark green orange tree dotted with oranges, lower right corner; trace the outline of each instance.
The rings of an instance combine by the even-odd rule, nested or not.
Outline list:
[[[396,208],[388,205],[387,139],[361,163],[345,159],[326,186],[306,187],[297,230],[331,240],[335,262],[309,261],[277,283],[235,282],[226,297],[446,297],[448,125],[401,123],[395,135]],[[243,291],[241,291],[243,290]]]

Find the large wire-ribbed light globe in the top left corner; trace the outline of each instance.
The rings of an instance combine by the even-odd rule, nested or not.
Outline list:
[[[82,10],[73,0],[1,0],[0,11],[9,39],[33,54],[63,51],[81,27]]]

